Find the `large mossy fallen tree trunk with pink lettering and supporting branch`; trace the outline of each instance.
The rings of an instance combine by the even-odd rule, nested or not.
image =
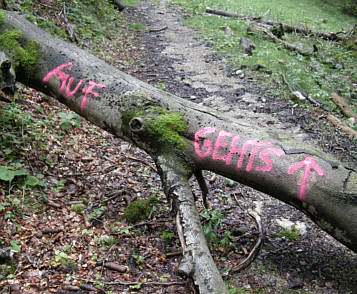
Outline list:
[[[6,12],[0,34],[0,49],[12,60],[17,81],[55,97],[152,156],[183,230],[180,270],[195,280],[201,293],[227,290],[208,251],[188,185],[200,170],[295,206],[357,250],[355,170],[304,143],[130,77],[16,14]]]

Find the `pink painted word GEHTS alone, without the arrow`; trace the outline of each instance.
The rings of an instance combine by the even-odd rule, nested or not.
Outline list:
[[[204,138],[207,134],[212,134],[216,132],[216,128],[207,127],[195,134],[195,151],[199,158],[203,159],[212,154],[212,160],[221,160],[227,166],[231,165],[233,156],[235,154],[239,154],[239,159],[237,161],[237,168],[242,168],[243,161],[248,153],[249,149],[249,159],[248,163],[245,167],[247,172],[250,172],[253,169],[254,160],[259,153],[259,158],[264,162],[265,165],[255,167],[256,171],[268,172],[273,168],[273,163],[268,157],[268,155],[275,155],[275,156],[282,156],[285,155],[285,152],[281,149],[271,148],[271,142],[259,142],[256,140],[247,140],[244,142],[241,148],[237,148],[237,144],[239,142],[240,136],[226,132],[220,131],[218,134],[218,138],[216,142],[213,144],[211,140],[204,139],[202,146],[200,147],[200,141]],[[227,149],[227,154],[221,154],[221,150],[223,148],[228,147],[229,143],[225,140],[230,140],[230,146]],[[269,147],[269,148],[266,148]],[[264,150],[260,151],[261,148],[265,148]]]

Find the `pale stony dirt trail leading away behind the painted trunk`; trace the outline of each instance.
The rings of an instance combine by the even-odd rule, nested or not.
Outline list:
[[[191,28],[183,24],[182,16],[169,6],[169,0],[162,0],[160,6],[153,6],[153,2],[145,1],[140,11],[147,15],[153,27],[167,28],[157,34],[163,38],[161,54],[173,60],[171,67],[179,73],[174,79],[193,90],[204,89],[206,92],[202,99],[193,94],[188,97],[190,100],[237,118],[244,117],[252,124],[304,137],[299,127],[282,124],[274,115],[256,112],[266,104],[264,94],[257,91],[254,84],[247,86],[245,78],[228,76],[219,58]]]

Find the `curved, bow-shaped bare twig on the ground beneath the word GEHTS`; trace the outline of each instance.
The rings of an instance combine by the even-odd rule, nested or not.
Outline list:
[[[236,201],[236,203],[238,204],[238,206],[241,207],[235,194],[233,194],[233,197],[234,197],[234,200]],[[249,255],[242,262],[240,262],[237,266],[232,268],[233,273],[239,272],[239,271],[247,268],[254,261],[254,259],[258,256],[258,253],[263,246],[264,231],[263,231],[260,216],[255,211],[252,211],[252,210],[245,210],[245,212],[252,219],[254,219],[254,221],[257,225],[258,231],[259,231],[259,237],[258,237],[258,240],[255,243],[253,249],[250,251]]]

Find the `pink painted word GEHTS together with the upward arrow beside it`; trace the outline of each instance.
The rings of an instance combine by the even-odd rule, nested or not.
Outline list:
[[[250,172],[253,169],[254,160],[258,156],[264,162],[264,165],[256,166],[256,171],[269,172],[273,168],[273,162],[269,155],[285,156],[285,152],[279,148],[272,147],[271,142],[259,142],[257,140],[247,140],[238,147],[240,141],[239,135],[233,135],[226,131],[220,131],[215,142],[206,139],[207,135],[216,133],[217,129],[206,127],[195,134],[194,147],[196,155],[200,159],[211,157],[214,161],[223,161],[227,166],[231,165],[233,156],[237,157],[237,168],[242,168],[244,159],[248,154],[248,162],[245,170]],[[224,154],[222,154],[224,153]],[[319,176],[324,175],[324,171],[310,157],[303,161],[294,163],[288,170],[289,175],[293,175],[298,169],[305,167],[304,174],[300,183],[299,199],[304,200],[307,190],[307,182],[311,176],[312,170],[315,170]]]

